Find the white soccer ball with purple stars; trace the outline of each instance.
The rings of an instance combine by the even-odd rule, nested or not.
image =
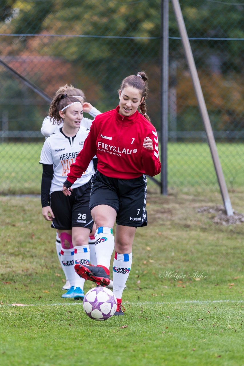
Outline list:
[[[117,309],[117,300],[111,290],[105,287],[94,287],[83,299],[85,313],[94,320],[107,320]]]

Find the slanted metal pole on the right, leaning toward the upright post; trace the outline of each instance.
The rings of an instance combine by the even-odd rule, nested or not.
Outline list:
[[[207,112],[206,103],[205,103],[205,100],[203,97],[202,88],[201,88],[198,73],[196,70],[195,61],[194,61],[194,58],[192,55],[192,50],[191,50],[189,38],[187,35],[187,30],[185,28],[185,22],[184,22],[183,15],[181,12],[179,0],[171,0],[171,1],[172,1],[175,16],[176,16],[176,20],[178,23],[180,36],[181,36],[181,40],[183,43],[185,56],[187,58],[187,63],[188,63],[188,67],[190,70],[192,82],[194,85],[196,97],[198,100],[198,107],[200,109],[200,114],[202,116],[202,120],[203,120],[204,127],[206,130],[207,140],[209,142],[209,147],[210,147],[211,155],[212,155],[213,162],[214,162],[214,168],[215,168],[215,171],[217,174],[222,199],[223,199],[223,202],[225,205],[225,210],[226,210],[227,215],[231,216],[231,215],[233,215],[233,209],[231,206],[229,193],[228,193],[228,190],[226,187],[224,174],[223,174],[222,167],[220,164],[220,160],[219,160],[219,156],[218,156],[218,152],[217,152],[217,146],[215,143],[214,134],[213,134],[213,130],[212,130],[210,119],[209,119],[209,114]]]

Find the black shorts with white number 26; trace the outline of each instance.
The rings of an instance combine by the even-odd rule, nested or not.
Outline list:
[[[51,227],[60,230],[84,227],[91,231],[93,219],[89,209],[90,192],[91,180],[83,186],[74,188],[68,197],[61,191],[51,193],[50,206],[55,216]]]

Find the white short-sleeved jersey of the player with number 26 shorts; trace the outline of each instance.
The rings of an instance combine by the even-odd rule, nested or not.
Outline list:
[[[80,150],[83,149],[85,139],[89,130],[80,126],[75,137],[67,137],[61,132],[61,128],[50,135],[41,150],[41,164],[53,164],[53,179],[50,187],[50,194],[61,191],[63,183],[70,172],[70,165],[75,162]],[[72,188],[83,186],[89,182],[94,175],[94,165],[91,161],[86,171],[76,180]]]

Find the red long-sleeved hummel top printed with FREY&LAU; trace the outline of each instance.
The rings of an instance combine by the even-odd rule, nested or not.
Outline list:
[[[97,155],[97,169],[111,178],[132,179],[142,174],[161,171],[158,136],[151,124],[138,111],[129,117],[118,113],[119,106],[95,117],[84,147],[70,166],[68,182],[73,184]],[[144,138],[153,140],[154,150],[143,147]]]

